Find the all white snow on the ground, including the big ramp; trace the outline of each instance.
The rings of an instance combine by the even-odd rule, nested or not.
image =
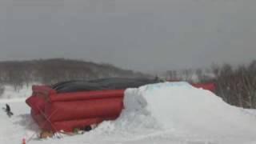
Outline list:
[[[256,143],[256,112],[230,106],[207,90],[186,82],[166,82],[126,90],[125,110],[116,121],[76,136],[38,140],[38,126],[30,118],[25,99],[0,100],[10,104],[14,117],[0,113],[0,143],[35,144]],[[35,135],[34,135],[35,134]]]

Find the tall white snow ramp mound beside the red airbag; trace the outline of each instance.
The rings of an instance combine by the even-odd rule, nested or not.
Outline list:
[[[127,89],[124,106],[116,121],[103,122],[98,130],[130,134],[169,131],[206,137],[256,134],[253,115],[228,105],[209,90],[195,88],[186,82]]]

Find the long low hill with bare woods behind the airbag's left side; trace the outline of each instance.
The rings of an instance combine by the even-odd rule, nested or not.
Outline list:
[[[122,70],[110,64],[63,58],[0,62],[0,84],[8,84],[15,89],[31,82],[50,85],[69,80],[143,76],[145,75],[132,70]]]

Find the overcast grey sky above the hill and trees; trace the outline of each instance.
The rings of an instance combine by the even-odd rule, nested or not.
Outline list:
[[[2,0],[0,60],[79,58],[150,72],[249,62],[256,58],[255,6],[254,0]]]

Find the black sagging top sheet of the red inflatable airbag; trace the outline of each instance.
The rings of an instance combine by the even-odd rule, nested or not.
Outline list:
[[[93,90],[124,90],[157,82],[159,82],[158,79],[146,78],[101,78],[90,81],[59,82],[51,87],[58,93],[67,93]]]

